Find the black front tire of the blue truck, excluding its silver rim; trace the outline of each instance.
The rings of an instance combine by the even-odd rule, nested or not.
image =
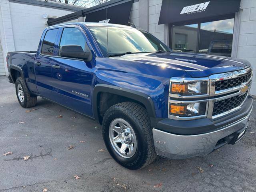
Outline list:
[[[137,149],[130,158],[120,156],[110,142],[109,129],[113,120],[122,118],[128,122],[137,138]],[[120,165],[131,170],[144,168],[156,158],[150,119],[146,109],[134,102],[122,102],[110,107],[103,117],[102,134],[108,152]]]

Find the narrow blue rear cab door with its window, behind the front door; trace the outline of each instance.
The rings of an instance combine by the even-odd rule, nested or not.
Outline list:
[[[42,96],[52,99],[52,59],[56,55],[58,28],[46,30],[34,60],[36,87]]]

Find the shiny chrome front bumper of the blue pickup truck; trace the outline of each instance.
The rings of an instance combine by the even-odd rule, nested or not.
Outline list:
[[[247,128],[251,113],[252,103],[246,116],[203,134],[180,135],[153,128],[156,153],[170,159],[185,159],[207,155],[225,144],[235,144],[244,136],[240,133]]]

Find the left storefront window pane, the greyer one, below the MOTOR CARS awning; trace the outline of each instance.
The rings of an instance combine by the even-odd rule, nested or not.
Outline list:
[[[172,27],[172,50],[196,52],[198,24]]]

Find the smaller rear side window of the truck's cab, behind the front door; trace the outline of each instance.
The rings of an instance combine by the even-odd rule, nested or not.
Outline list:
[[[48,30],[44,36],[41,53],[45,55],[53,55],[54,42],[58,29]]]

